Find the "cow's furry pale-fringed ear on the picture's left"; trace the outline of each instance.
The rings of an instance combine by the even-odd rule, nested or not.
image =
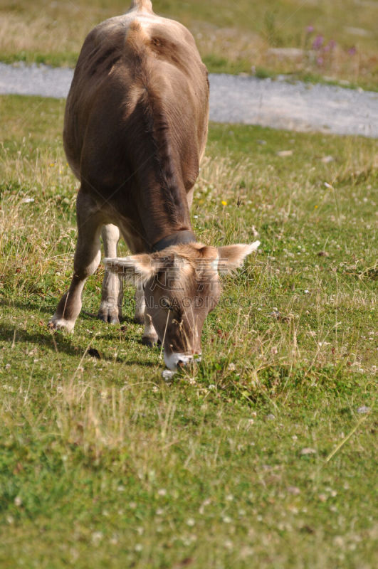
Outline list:
[[[105,269],[122,275],[135,282],[147,282],[159,270],[158,263],[147,253],[130,255],[130,257],[107,257],[104,259]]]

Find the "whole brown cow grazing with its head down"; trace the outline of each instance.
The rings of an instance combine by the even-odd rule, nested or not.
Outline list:
[[[204,154],[209,82],[191,33],[160,18],[149,0],[100,23],[85,39],[65,108],[63,141],[80,180],[78,243],[68,292],[49,325],[73,331],[85,280],[100,262],[98,316],[121,318],[122,276],[137,285],[143,341],[164,346],[175,369],[201,353],[206,315],[219,301],[219,272],[243,264],[252,245],[196,241],[189,208]],[[117,258],[125,239],[132,255]]]

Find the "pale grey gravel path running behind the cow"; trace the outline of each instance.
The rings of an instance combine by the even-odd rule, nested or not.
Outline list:
[[[0,94],[66,97],[73,70],[0,63]],[[378,92],[210,75],[210,118],[299,131],[378,138]]]

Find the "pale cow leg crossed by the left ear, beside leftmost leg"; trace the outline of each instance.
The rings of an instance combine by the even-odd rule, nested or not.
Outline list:
[[[101,232],[105,257],[117,257],[117,243],[120,240],[120,230],[111,223],[103,226]],[[122,319],[123,283],[122,277],[114,272],[105,271],[103,292],[101,296],[98,318],[110,324],[117,324]]]

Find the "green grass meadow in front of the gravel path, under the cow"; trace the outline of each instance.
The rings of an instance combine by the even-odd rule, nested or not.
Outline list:
[[[168,385],[132,287],[121,326],[93,317],[102,267],[75,334],[47,329],[75,248],[63,107],[0,98],[1,568],[377,566],[377,142],[211,125],[196,234],[261,252]]]

